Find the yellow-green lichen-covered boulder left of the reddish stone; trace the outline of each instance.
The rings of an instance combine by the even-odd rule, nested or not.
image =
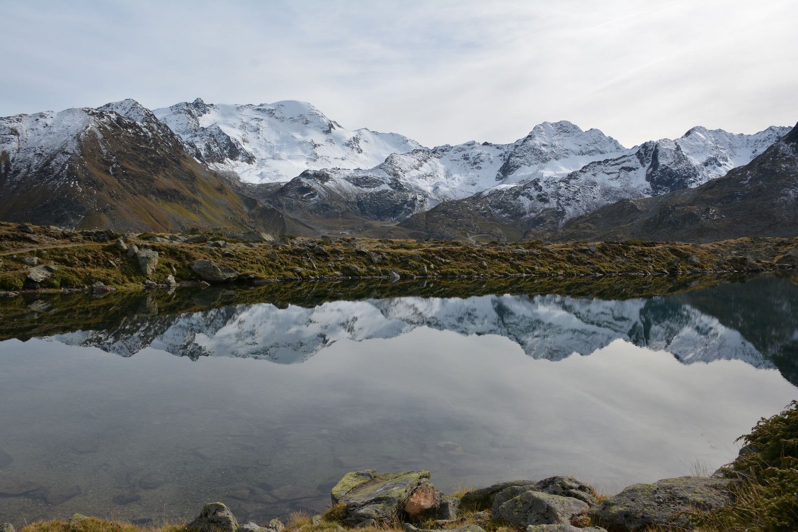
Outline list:
[[[355,526],[367,519],[378,523],[390,522],[394,516],[404,513],[405,503],[421,488],[432,488],[429,471],[377,475],[377,471],[369,469],[347,473],[330,495],[333,504],[346,505],[343,524]]]

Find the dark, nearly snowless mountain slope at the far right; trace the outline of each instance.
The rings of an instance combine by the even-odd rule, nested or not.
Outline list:
[[[749,164],[700,187],[623,199],[548,234],[561,240],[709,241],[798,233],[798,125]]]

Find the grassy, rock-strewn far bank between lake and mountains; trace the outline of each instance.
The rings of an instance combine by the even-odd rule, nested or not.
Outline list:
[[[796,238],[721,242],[488,242],[120,234],[0,223],[0,291],[155,290],[210,284],[414,278],[710,274],[798,266]]]

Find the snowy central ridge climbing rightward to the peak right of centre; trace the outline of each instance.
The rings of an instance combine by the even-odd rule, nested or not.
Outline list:
[[[626,152],[598,129],[544,122],[512,144],[472,141],[394,154],[368,170],[308,171],[278,191],[274,202],[308,211],[334,201],[367,219],[402,220],[450,199],[531,179],[559,179],[591,161]]]

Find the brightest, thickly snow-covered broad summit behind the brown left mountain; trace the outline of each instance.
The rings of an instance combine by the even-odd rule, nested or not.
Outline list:
[[[248,183],[287,181],[305,170],[369,168],[421,148],[396,133],[342,128],[302,101],[226,105],[197,98],[153,112],[211,167],[235,171]]]

